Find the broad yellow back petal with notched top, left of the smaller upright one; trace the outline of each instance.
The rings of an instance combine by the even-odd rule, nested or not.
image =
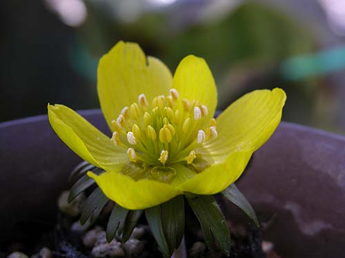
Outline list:
[[[157,58],[146,58],[136,43],[120,41],[99,61],[97,89],[101,109],[109,127],[125,106],[138,102],[145,94],[148,103],[160,94],[168,94],[171,73]]]

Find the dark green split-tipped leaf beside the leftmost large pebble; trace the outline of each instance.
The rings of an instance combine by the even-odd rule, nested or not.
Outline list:
[[[83,208],[81,208],[80,224],[83,225],[91,215],[90,222],[95,222],[107,202],[108,198],[97,187],[84,202]]]

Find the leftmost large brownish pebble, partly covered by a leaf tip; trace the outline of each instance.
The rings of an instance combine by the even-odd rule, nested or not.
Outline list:
[[[85,195],[81,193],[75,200],[72,202],[68,202],[68,195],[70,194],[69,191],[63,191],[57,200],[57,206],[59,207],[59,211],[61,213],[65,213],[66,215],[70,215],[71,217],[76,217],[79,215],[80,207],[83,201],[85,200]]]

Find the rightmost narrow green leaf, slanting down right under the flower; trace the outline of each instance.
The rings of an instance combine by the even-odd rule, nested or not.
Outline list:
[[[230,202],[238,206],[246,215],[253,220],[255,225],[259,227],[259,221],[257,220],[257,215],[255,215],[255,211],[253,207],[250,205],[246,197],[239,191],[235,184],[230,184],[227,189],[221,192],[226,199]]]

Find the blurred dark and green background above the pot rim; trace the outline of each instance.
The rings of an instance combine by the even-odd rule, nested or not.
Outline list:
[[[219,109],[282,87],[284,120],[345,134],[344,0],[14,0],[0,1],[0,19],[0,121],[48,102],[99,107],[98,60],[124,40],[172,72],[204,57]]]

